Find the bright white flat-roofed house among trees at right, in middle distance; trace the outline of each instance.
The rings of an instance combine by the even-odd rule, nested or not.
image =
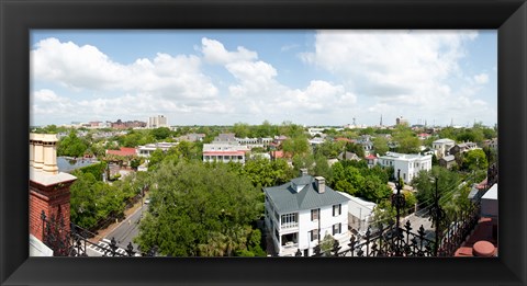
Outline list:
[[[397,170],[401,170],[401,178],[405,183],[412,182],[422,170],[431,170],[431,155],[386,152],[379,157],[378,162],[382,167],[393,167],[394,176],[397,175]]]

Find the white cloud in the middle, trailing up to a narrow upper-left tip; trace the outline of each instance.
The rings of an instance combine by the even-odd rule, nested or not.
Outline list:
[[[222,62],[234,77],[228,85],[226,102],[234,114],[288,121],[291,117],[310,117],[310,112],[322,112],[330,116],[346,104],[354,104],[357,96],[347,92],[341,84],[323,80],[312,80],[304,89],[291,89],[277,80],[278,70],[269,62],[257,60],[256,52],[238,47],[238,52],[228,52],[223,44],[213,39],[203,39],[204,57],[221,55],[215,64]],[[213,43],[213,45],[211,45]],[[214,47],[214,52],[212,53]],[[244,50],[244,54],[239,54]],[[211,60],[209,60],[211,61]],[[345,104],[345,105],[343,105]],[[348,105],[349,106],[349,105]]]

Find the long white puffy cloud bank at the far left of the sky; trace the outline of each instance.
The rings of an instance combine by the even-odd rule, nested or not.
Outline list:
[[[112,61],[97,47],[38,42],[31,52],[32,77],[71,90],[149,92],[170,99],[212,99],[217,89],[201,70],[197,56],[158,54],[132,65]]]

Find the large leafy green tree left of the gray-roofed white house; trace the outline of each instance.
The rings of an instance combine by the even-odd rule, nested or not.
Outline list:
[[[226,164],[164,161],[153,173],[152,203],[135,241],[175,256],[234,255],[247,250],[261,216],[261,192]]]

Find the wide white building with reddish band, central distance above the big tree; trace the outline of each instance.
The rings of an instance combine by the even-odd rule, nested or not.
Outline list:
[[[249,151],[247,146],[233,144],[204,144],[203,162],[236,162],[245,163],[245,153]]]

